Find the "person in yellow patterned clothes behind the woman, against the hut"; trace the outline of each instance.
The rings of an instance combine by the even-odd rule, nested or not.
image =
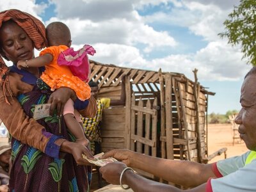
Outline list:
[[[82,118],[84,133],[91,143],[92,154],[98,154],[100,150],[100,127],[99,122],[102,120],[102,111],[104,108],[109,108],[109,106],[118,106],[125,104],[125,77],[122,77],[122,88],[120,99],[110,99],[110,98],[98,98],[99,87],[94,81],[90,81],[89,85],[91,87],[92,97],[97,100],[97,113],[93,118]]]

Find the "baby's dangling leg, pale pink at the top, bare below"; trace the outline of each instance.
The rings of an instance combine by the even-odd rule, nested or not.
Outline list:
[[[63,115],[68,129],[76,138],[76,142],[88,145],[89,141],[84,135],[83,127],[81,127],[74,116],[74,102],[71,99],[65,104]]]

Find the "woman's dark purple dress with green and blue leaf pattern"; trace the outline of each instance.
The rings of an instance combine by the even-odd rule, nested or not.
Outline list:
[[[44,85],[41,81],[39,88],[35,86],[32,92],[19,96],[26,115],[33,116],[35,104],[44,104],[49,99],[51,91],[49,88],[45,89]],[[68,132],[64,119],[58,118],[56,113],[38,120],[38,123],[43,125],[47,132],[69,141],[75,140]],[[52,158],[12,138],[10,191],[89,191],[91,167],[77,166],[72,154],[60,156],[60,159]]]

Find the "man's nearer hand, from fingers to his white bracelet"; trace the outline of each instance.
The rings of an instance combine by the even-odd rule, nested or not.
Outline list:
[[[121,162],[108,163],[100,168],[102,177],[111,184],[119,184],[122,171],[127,166]]]

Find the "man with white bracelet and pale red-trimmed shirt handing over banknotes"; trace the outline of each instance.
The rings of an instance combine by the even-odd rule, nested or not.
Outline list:
[[[175,184],[193,188],[187,191],[256,191],[256,67],[244,78],[240,102],[242,109],[236,117],[236,124],[239,124],[240,137],[249,149],[245,154],[217,163],[200,164],[150,157],[125,149],[112,150],[102,158],[115,157],[123,163],[102,166],[102,177],[112,184],[127,184],[134,191],[183,191],[145,179],[127,168],[131,166]]]

